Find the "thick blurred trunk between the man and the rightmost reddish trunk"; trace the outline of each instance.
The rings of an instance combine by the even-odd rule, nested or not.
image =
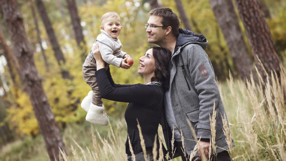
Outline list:
[[[209,0],[217,22],[223,32],[234,66],[240,77],[250,79],[252,59],[240,30],[234,6],[230,0]]]

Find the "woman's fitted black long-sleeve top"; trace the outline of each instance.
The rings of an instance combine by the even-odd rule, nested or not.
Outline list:
[[[138,119],[142,128],[146,150],[152,149],[155,135],[158,134],[158,125],[163,112],[163,86],[158,84],[115,84],[109,68],[107,71],[99,69],[95,72],[95,75],[102,98],[129,103],[125,111],[125,120],[134,154],[142,152],[136,119]],[[158,138],[157,145],[159,145]],[[126,154],[131,155],[128,138],[125,148]]]

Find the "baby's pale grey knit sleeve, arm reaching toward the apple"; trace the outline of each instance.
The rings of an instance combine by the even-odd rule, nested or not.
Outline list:
[[[111,40],[108,38],[97,40],[99,42],[99,50],[102,56],[102,59],[111,65],[114,65],[116,67],[120,67],[122,58],[117,58],[115,55],[113,55],[114,51],[114,44],[111,43]]]

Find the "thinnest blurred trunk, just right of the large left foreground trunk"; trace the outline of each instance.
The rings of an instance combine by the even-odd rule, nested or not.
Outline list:
[[[31,10],[32,10],[32,16],[33,16],[33,19],[34,19],[36,32],[37,32],[37,40],[38,40],[38,43],[40,44],[40,47],[41,47],[41,52],[42,52],[42,56],[43,56],[43,59],[44,59],[44,62],[45,62],[46,71],[49,72],[49,64],[48,64],[47,56],[46,56],[46,53],[45,53],[45,49],[43,48],[43,45],[42,45],[41,31],[39,29],[38,19],[37,19],[36,12],[35,12],[35,9],[34,9],[33,0],[30,0],[30,7],[31,7]]]

